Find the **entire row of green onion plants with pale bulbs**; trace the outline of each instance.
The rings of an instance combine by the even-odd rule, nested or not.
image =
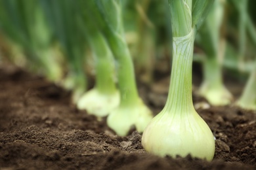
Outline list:
[[[226,4],[236,10],[238,23],[231,25],[238,32],[235,42],[239,48],[235,52],[238,55],[232,58],[238,63],[242,61],[236,70],[250,74],[236,105],[256,109],[256,60],[251,62],[251,69],[244,66],[248,63],[247,34],[248,41],[256,46],[256,29],[247,3],[1,0],[0,28],[13,51],[10,58],[22,54],[18,56],[25,61],[23,67],[72,91],[72,103],[78,109],[87,110],[98,120],[106,117],[106,123],[117,135],[128,135],[135,127],[143,132],[142,146],[148,152],[173,157],[191,154],[210,161],[215,153],[215,139],[192,101],[194,41],[202,51],[203,82],[199,94],[211,105],[230,105],[233,98],[224,86],[222,70],[228,65],[226,56],[234,43],[223,36],[223,20]],[[157,51],[166,43],[172,44],[173,49],[169,54],[169,93],[165,107],[154,117],[139,95],[135,75],[140,73],[139,79],[149,85],[154,82]],[[92,73],[95,86],[88,90],[87,77]]]

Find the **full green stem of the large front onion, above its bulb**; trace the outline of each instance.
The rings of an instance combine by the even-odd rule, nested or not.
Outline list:
[[[186,2],[186,4],[184,3]],[[192,59],[194,29],[192,29],[192,1],[169,0],[173,33],[173,63],[167,103],[163,112],[188,113],[192,102]]]

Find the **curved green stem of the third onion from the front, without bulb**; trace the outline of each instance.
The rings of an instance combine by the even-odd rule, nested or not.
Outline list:
[[[81,3],[81,6],[83,6]],[[89,10],[85,10],[83,14],[83,23],[80,20],[80,24],[83,25],[85,31],[85,37],[89,41],[95,61],[96,61],[96,89],[101,93],[114,93],[116,92],[116,83],[114,81],[114,58],[106,39],[95,25],[95,22],[90,17]]]

